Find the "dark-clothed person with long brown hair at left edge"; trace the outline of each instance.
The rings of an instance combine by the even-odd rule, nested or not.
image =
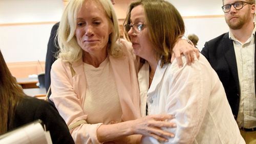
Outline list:
[[[11,75],[0,51],[0,135],[41,119],[53,143],[74,143],[58,112],[46,101],[27,96]]]

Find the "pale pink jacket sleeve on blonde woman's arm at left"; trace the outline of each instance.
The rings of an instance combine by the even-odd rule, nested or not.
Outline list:
[[[51,70],[50,100],[54,102],[59,114],[63,117],[68,126],[80,120],[86,120],[80,97],[74,91],[73,79],[70,67],[61,60],[56,60]],[[81,124],[70,130],[75,143],[100,143],[97,138],[99,124]]]

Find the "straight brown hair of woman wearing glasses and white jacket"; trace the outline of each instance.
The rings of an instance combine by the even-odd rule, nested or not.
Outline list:
[[[131,11],[139,5],[144,8],[146,27],[149,30],[150,40],[155,45],[156,58],[161,59],[161,66],[163,66],[170,62],[173,46],[185,32],[184,21],[178,10],[169,2],[140,0],[130,5],[124,25],[131,23]],[[131,40],[127,33],[125,38]]]

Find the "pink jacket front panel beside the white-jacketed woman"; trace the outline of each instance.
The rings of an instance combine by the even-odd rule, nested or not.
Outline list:
[[[123,121],[139,118],[139,89],[133,60],[129,60],[128,57],[113,58],[110,56],[110,63],[115,75]]]

